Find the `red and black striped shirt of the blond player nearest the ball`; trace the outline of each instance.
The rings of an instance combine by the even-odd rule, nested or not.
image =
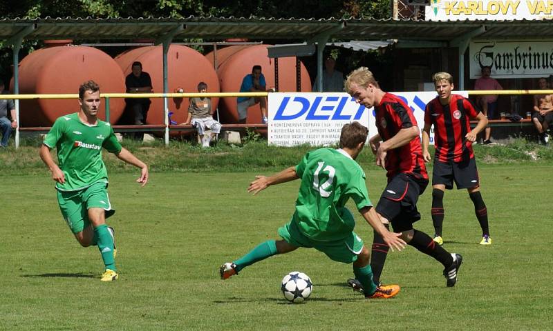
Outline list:
[[[394,94],[386,93],[375,107],[376,127],[383,141],[391,139],[402,129],[417,126],[413,110]],[[388,180],[399,173],[411,174],[416,179],[428,179],[427,168],[422,159],[419,137],[404,146],[388,150],[386,154],[386,176]]]

